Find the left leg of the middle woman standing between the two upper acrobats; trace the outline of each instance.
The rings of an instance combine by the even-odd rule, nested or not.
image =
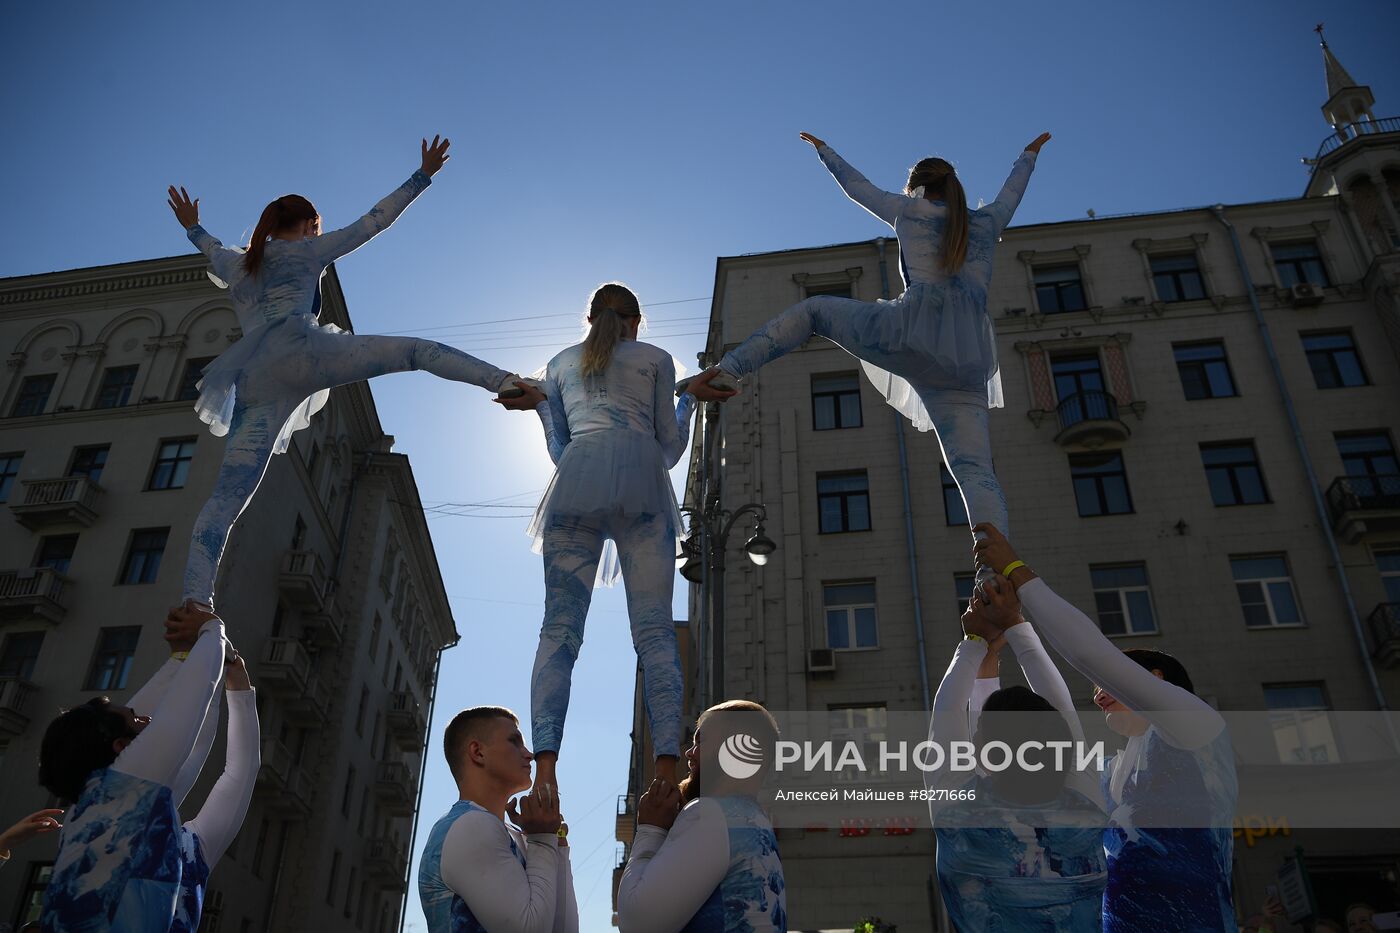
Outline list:
[[[554,762],[564,737],[574,661],[584,642],[584,619],[603,549],[598,523],[556,516],[545,530],[545,625],[531,674],[531,741],[535,785],[554,785]]]

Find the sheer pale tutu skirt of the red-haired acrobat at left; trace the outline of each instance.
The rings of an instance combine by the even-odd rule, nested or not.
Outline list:
[[[333,387],[316,378],[316,360],[335,354],[344,333],[333,324],[316,324],[304,314],[249,331],[204,367],[195,410],[211,434],[223,437],[238,402],[280,402],[290,410],[273,452],[286,452],[291,436],[309,426],[311,416],[325,408],[330,396]]]

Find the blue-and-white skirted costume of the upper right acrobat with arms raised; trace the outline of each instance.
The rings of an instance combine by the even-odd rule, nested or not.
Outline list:
[[[1021,203],[1036,154],[1022,153],[997,199],[969,213],[967,258],[952,275],[939,259],[946,205],[881,191],[829,146],[818,156],[851,200],[895,228],[904,293],[893,301],[799,301],[729,350],[720,368],[748,375],[813,335],[837,343],[860,357],[875,388],[918,430],[938,431],[969,524],[990,521],[1005,531],[987,423],[987,409],[1004,405],[987,286],[997,238]]]

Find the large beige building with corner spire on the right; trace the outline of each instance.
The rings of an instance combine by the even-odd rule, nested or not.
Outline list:
[[[1330,50],[1324,64],[1334,133],[1302,196],[1014,227],[990,290],[1018,551],[1228,710],[1400,702],[1400,119],[1376,120]],[[893,297],[897,268],[893,238],[721,258],[706,361],[811,294]],[[930,709],[973,570],[937,437],[820,338],[707,423],[687,504],[711,527],[762,504],[778,549],[745,560],[741,523],[722,590],[692,588],[689,712],[749,698],[878,738],[889,713]],[[778,842],[791,929],[951,929],[930,831]],[[1240,919],[1296,846],[1323,915],[1400,902],[1400,834],[1280,828],[1238,838]]]

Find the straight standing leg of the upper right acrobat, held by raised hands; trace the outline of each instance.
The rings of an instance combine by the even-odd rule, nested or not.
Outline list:
[[[991,468],[991,430],[987,394],[983,391],[923,388],[924,401],[938,431],[944,462],[958,483],[967,524],[990,521],[1011,537],[1007,499]],[[983,576],[980,574],[979,580]]]

